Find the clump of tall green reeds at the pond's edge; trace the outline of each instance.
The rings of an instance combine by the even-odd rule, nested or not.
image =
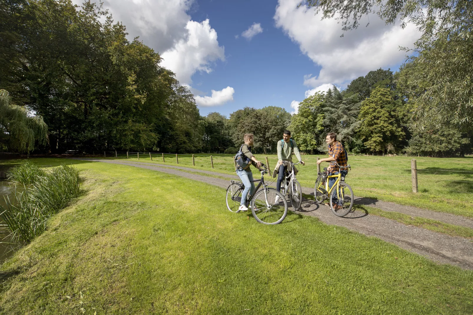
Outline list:
[[[0,218],[9,230],[7,237],[28,242],[46,229],[49,217],[63,209],[79,194],[79,170],[61,165],[44,170],[26,162],[9,172],[12,184],[22,185],[23,192],[15,192],[6,207],[0,206]]]

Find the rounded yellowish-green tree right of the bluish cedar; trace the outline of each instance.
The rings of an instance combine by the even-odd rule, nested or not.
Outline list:
[[[358,134],[371,151],[386,152],[403,140],[405,133],[396,113],[396,101],[387,88],[377,87],[361,102]]]

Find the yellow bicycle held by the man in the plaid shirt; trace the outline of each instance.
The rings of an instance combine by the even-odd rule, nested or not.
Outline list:
[[[351,190],[349,184],[345,183],[345,176],[348,169],[350,169],[350,165],[340,166],[337,162],[333,162],[333,164],[340,167],[340,171],[336,175],[329,175],[327,168],[324,167],[324,172],[317,174],[314,197],[317,203],[322,203],[328,198],[333,214],[343,217],[353,207],[353,190]],[[330,189],[328,187],[329,178],[336,178],[335,183],[333,183]]]

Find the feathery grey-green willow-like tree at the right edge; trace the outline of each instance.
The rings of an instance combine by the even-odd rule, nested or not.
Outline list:
[[[414,108],[414,124],[473,129],[473,32],[439,35],[423,45],[397,80]]]

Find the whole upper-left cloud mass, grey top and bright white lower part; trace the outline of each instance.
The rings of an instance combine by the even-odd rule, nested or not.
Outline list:
[[[80,7],[83,0],[72,2]],[[98,4],[99,1],[92,2]],[[197,91],[190,86],[192,75],[197,71],[210,73],[215,61],[225,60],[225,50],[219,46],[217,32],[210,27],[209,19],[199,23],[187,14],[194,2],[103,0],[103,7],[113,15],[115,22],[126,26],[129,40],[140,36],[140,40],[161,55],[161,66],[173,71],[182,85]]]

